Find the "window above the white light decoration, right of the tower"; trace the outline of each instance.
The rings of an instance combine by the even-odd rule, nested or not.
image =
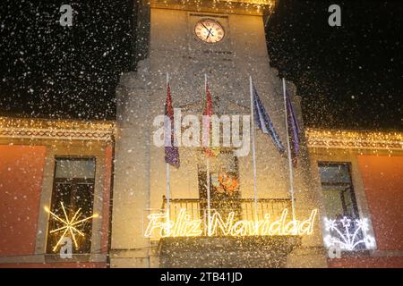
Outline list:
[[[359,218],[348,163],[320,163],[326,214],[332,219]]]

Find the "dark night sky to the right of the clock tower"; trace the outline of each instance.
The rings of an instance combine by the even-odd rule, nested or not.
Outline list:
[[[327,25],[341,7],[341,27]],[[304,122],[403,130],[403,1],[279,2],[268,29],[271,65],[303,97]]]

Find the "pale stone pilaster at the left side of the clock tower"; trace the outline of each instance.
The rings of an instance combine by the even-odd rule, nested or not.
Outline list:
[[[147,63],[141,63],[147,69]],[[129,72],[116,90],[116,156],[111,267],[149,267],[142,224],[150,207],[150,89],[147,72]]]

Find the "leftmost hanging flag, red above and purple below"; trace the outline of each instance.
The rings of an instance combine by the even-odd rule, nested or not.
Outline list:
[[[174,108],[172,107],[171,88],[167,81],[167,101],[165,103],[165,162],[179,168],[179,150],[175,146]]]

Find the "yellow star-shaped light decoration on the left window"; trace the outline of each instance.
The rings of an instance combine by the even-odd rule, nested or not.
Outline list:
[[[49,233],[56,233],[56,232],[61,232],[62,235],[60,236],[60,239],[57,240],[56,246],[52,249],[53,251],[56,251],[57,247],[59,246],[59,244],[62,242],[62,240],[64,239],[64,237],[66,235],[71,236],[71,238],[74,241],[74,246],[77,249],[78,248],[78,243],[77,240],[75,239],[75,234],[79,234],[81,236],[85,236],[85,234],[79,230],[78,228],[80,226],[83,225],[84,222],[94,218],[94,217],[98,217],[98,214],[92,214],[89,217],[85,217],[80,219],[81,216],[81,208],[79,208],[73,215],[73,217],[70,219],[69,216],[67,215],[67,212],[65,210],[64,204],[63,202],[60,202],[60,205],[62,206],[62,210],[63,210],[63,214],[64,214],[64,218],[60,217],[59,215],[51,212],[49,210],[49,208],[47,206],[45,206],[45,211],[52,215],[52,217],[59,223],[63,223],[62,227],[59,227],[55,230],[49,231]],[[63,231],[63,232],[62,232]]]

